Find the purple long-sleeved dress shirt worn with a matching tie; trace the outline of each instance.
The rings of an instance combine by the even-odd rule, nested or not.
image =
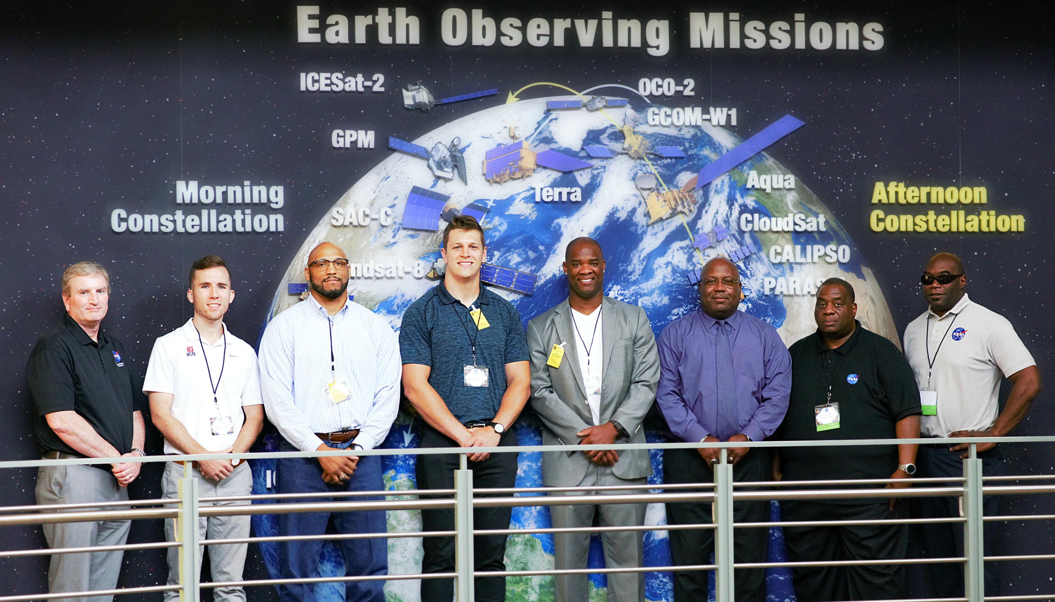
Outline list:
[[[773,434],[791,394],[791,355],[776,329],[742,311],[729,316],[740,432]],[[664,329],[656,401],[675,438],[696,443],[717,429],[717,321],[698,309]]]

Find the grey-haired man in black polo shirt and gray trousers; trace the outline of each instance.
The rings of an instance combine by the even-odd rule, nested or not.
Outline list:
[[[80,261],[62,274],[62,323],[37,341],[25,365],[37,443],[44,459],[143,455],[142,397],[132,383],[124,347],[99,325],[107,315],[110,276]],[[38,504],[120,502],[139,464],[44,466]],[[110,506],[115,510],[119,507]],[[43,525],[49,547],[123,545],[130,521]],[[113,589],[121,551],[59,554],[47,569],[51,593]],[[83,600],[113,600],[113,596]]]

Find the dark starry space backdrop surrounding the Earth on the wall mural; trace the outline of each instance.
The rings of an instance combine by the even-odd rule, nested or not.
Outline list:
[[[330,13],[377,13],[378,5],[320,1]],[[882,285],[899,331],[919,315],[918,275],[933,253],[963,257],[974,300],[1015,326],[1043,374],[1052,367],[1053,148],[1052,26],[1043,4],[842,2],[669,4],[614,2],[488,3],[486,16],[670,19],[671,51],[449,47],[440,15],[455,3],[405,3],[421,20],[420,46],[298,44],[295,2],[22,3],[0,7],[0,263],[9,294],[0,300],[0,459],[34,458],[31,400],[23,366],[35,341],[61,315],[61,272],[81,259],[103,263],[113,295],[104,328],[128,349],[139,376],[153,341],[191,315],[190,263],[225,257],[237,299],[227,317],[254,344],[286,266],[324,212],[404,139],[504,101],[535,81],[582,90],[636,86],[641,77],[696,80],[696,96],[671,106],[732,106],[742,137],[790,113],[806,127],[767,150],[839,216]],[[401,3],[403,4],[403,3]],[[483,3],[480,3],[483,4]],[[471,6],[464,6],[466,11]],[[474,7],[478,7],[474,5]],[[883,24],[882,51],[691,50],[690,11],[741,12],[760,19]],[[376,30],[370,27],[371,32]],[[569,32],[571,34],[571,31]],[[599,40],[599,35],[598,35]],[[598,42],[599,43],[599,42]],[[384,93],[301,93],[300,72],[375,73]],[[421,80],[437,97],[498,88],[498,97],[403,109],[399,89]],[[549,94],[532,89],[522,97]],[[333,149],[334,129],[373,130],[373,150]],[[472,168],[475,169],[475,168]],[[279,234],[115,234],[110,212],[172,212],[175,181],[284,186]],[[876,181],[906,186],[986,186],[989,208],[1024,214],[1027,232],[913,234],[870,232]],[[962,182],[962,183],[961,183]],[[254,208],[256,209],[256,208]],[[270,210],[268,210],[270,212]],[[897,210],[896,210],[897,211]],[[254,211],[256,213],[256,211]],[[603,244],[603,240],[601,240]],[[532,316],[523,316],[528,319]],[[1014,434],[1052,434],[1051,395],[1041,393]],[[148,420],[149,425],[149,420]],[[161,451],[148,426],[148,452]],[[1055,447],[1004,446],[1009,469],[1055,473]],[[159,467],[130,488],[153,498]],[[32,470],[0,472],[0,504],[32,504]],[[1005,514],[1055,513],[1049,498],[1011,498]],[[1055,554],[1048,522],[998,524],[997,555]],[[164,539],[159,522],[136,523],[130,543]],[[43,546],[37,527],[5,527],[0,548]],[[255,546],[246,577],[265,578]],[[0,559],[0,595],[46,589],[46,558]],[[1052,591],[1051,561],[1004,563],[1004,595]],[[129,552],[120,586],[164,583],[160,551]],[[912,580],[915,582],[915,580]],[[274,599],[255,588],[253,599]],[[128,597],[131,598],[131,597]],[[136,599],[159,600],[159,595]]]

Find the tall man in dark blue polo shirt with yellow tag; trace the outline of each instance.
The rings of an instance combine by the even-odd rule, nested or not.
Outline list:
[[[400,355],[407,400],[425,422],[421,447],[515,446],[510,428],[528,402],[531,369],[520,314],[480,286],[486,248],[476,219],[455,216],[443,231],[443,283],[403,314]],[[454,488],[457,454],[418,457],[419,489]],[[474,487],[513,487],[515,453],[468,453]],[[422,496],[425,498],[425,496]],[[477,529],[510,528],[511,508],[477,508]],[[454,530],[454,510],[422,510],[426,531]],[[477,536],[476,570],[505,570],[505,536]],[[422,572],[455,570],[454,538],[424,538]],[[454,597],[453,580],[423,579],[421,599]],[[505,600],[505,579],[478,578],[476,599]]]

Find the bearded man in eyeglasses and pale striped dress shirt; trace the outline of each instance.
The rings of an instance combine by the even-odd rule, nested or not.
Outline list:
[[[337,245],[323,242],[308,255],[304,277],[307,299],[280,313],[261,341],[264,408],[284,441],[282,451],[373,449],[380,446],[399,410],[400,356],[388,323],[348,298],[348,258]],[[380,491],[379,455],[284,458],[276,462],[279,493]],[[340,501],[381,500],[341,497]],[[327,502],[334,498],[290,499]],[[331,526],[331,529],[328,528]],[[279,514],[283,536],[387,531],[384,510]],[[279,544],[284,579],[318,577],[322,540]],[[388,572],[387,540],[341,540],[345,575]],[[349,581],[345,600],[384,602],[384,581]],[[279,586],[284,602],[313,602],[312,584]]]

